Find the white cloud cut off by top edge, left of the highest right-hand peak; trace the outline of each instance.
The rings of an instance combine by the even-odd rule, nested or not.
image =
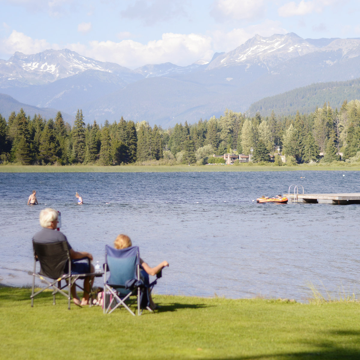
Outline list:
[[[264,0],[215,0],[211,15],[218,20],[251,20],[261,17],[264,11]]]

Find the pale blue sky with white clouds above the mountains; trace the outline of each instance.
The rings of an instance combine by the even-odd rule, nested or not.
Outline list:
[[[0,58],[68,48],[136,68],[186,66],[255,34],[360,37],[355,0],[0,0]]]

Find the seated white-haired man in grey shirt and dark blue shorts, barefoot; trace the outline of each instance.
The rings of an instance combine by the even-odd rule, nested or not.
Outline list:
[[[67,241],[66,236],[61,231],[54,231],[58,225],[58,212],[54,209],[49,207],[40,211],[40,225],[42,229],[38,231],[32,238],[33,242],[35,243],[57,243],[66,241],[70,258],[71,259],[80,259],[83,257],[88,257],[90,260],[93,260],[93,256],[86,251],[75,251],[69,242]],[[67,268],[68,264],[66,265]],[[68,270],[67,270],[68,271]],[[93,273],[94,267],[93,265],[90,266],[87,263],[81,262],[71,262],[71,274],[86,274],[86,273]],[[71,294],[73,297],[73,302],[76,305],[87,305],[89,304],[89,292],[90,292],[90,281],[91,286],[94,282],[94,276],[86,276],[84,279],[84,297],[80,301],[76,293],[76,285],[73,284],[71,287]]]

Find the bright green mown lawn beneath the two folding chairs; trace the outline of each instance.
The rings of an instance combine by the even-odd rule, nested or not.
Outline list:
[[[360,304],[154,296],[160,311],[67,310],[0,288],[1,359],[360,359]]]

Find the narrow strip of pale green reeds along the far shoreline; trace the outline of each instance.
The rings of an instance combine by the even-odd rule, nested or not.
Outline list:
[[[209,171],[307,171],[307,170],[360,170],[360,165],[124,165],[124,166],[95,166],[95,165],[67,165],[67,166],[40,166],[40,165],[0,165],[0,172],[209,172]]]

